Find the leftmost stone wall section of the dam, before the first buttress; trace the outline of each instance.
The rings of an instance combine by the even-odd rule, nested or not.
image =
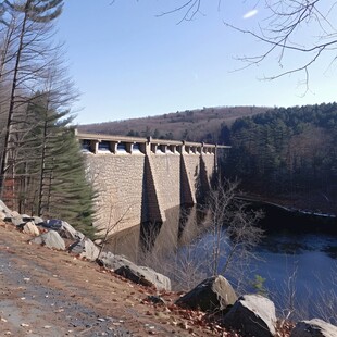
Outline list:
[[[145,154],[86,154],[88,178],[97,192],[93,225],[111,234],[141,219]]]

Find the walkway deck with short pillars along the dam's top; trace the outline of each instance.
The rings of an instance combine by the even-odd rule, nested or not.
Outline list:
[[[153,139],[152,137],[126,137],[76,132],[84,153],[112,154],[215,154],[228,146],[191,142],[185,140]]]

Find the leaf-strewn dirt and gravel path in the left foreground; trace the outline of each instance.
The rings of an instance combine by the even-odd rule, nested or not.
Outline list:
[[[0,336],[214,336],[143,301],[154,290],[28,239],[0,222]]]

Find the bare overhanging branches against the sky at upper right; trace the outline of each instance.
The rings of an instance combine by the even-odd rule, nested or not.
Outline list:
[[[214,8],[230,17],[230,4],[214,0]],[[244,67],[257,65],[267,58],[276,59],[279,72],[266,75],[265,79],[275,79],[291,73],[303,73],[308,87],[310,67],[323,54],[328,54],[327,67],[336,61],[337,30],[336,1],[322,0],[260,0],[242,1],[251,3],[250,14],[259,14],[255,26],[244,27],[224,20],[224,24],[244,35],[262,42],[264,51],[238,58],[246,63]],[[238,4],[239,5],[239,4]],[[180,12],[178,23],[191,21],[210,10],[208,1],[180,0],[175,8],[158,16]],[[301,58],[298,54],[302,54]],[[325,61],[326,62],[326,61]]]

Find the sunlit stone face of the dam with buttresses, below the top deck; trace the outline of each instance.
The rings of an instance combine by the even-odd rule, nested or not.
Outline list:
[[[166,211],[194,204],[209,191],[214,153],[87,153],[97,191],[93,225],[113,234],[142,222],[164,222]]]

